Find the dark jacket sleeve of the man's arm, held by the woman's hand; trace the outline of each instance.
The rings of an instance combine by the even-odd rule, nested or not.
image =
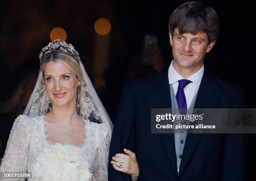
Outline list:
[[[131,181],[131,175],[116,171],[110,163],[115,154],[124,153],[124,148],[135,152],[135,106],[128,83],[123,87],[110,143],[109,181]]]

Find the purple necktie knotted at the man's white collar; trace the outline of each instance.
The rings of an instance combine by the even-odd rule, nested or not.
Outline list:
[[[187,101],[186,101],[186,97],[183,89],[184,87],[187,86],[187,84],[191,83],[191,81],[187,79],[181,79],[178,82],[179,82],[179,87],[176,94],[176,100],[177,100],[180,114],[185,115],[187,113]]]

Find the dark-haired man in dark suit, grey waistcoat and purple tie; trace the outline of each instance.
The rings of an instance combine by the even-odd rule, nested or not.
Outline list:
[[[243,107],[242,91],[204,68],[218,33],[218,15],[204,3],[187,2],[174,10],[169,69],[123,88],[110,145],[109,181],[131,181],[110,163],[124,148],[136,153],[138,181],[245,181],[244,135],[151,134],[151,108]]]

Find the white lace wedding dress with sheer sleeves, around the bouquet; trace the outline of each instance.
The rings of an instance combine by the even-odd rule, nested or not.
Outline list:
[[[85,121],[85,139],[80,146],[82,157],[87,161],[93,181],[108,181],[108,154],[110,135],[105,123]],[[20,115],[10,133],[0,172],[32,172],[33,163],[44,147],[52,143],[47,140],[44,115],[28,117]],[[24,181],[25,178],[1,179],[0,181]],[[28,178],[32,181],[32,178]]]

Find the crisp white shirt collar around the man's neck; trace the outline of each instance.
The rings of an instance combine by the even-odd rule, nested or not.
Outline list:
[[[173,61],[172,61],[173,62]],[[187,78],[187,80],[192,81],[193,83],[197,84],[198,86],[201,83],[202,76],[204,74],[205,67],[202,65],[201,69],[197,71],[195,74],[192,74]],[[184,79],[173,67],[172,63],[169,66],[168,69],[168,79],[169,79],[169,84],[172,84],[174,82],[177,82],[180,79]]]

